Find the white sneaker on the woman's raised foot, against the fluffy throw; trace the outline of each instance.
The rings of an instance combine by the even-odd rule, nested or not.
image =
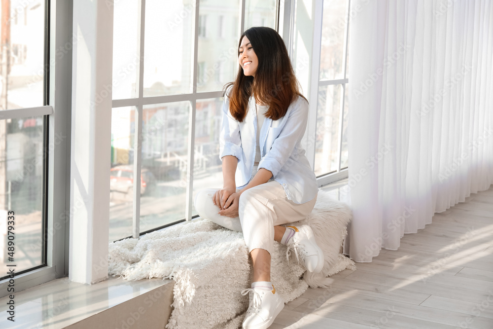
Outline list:
[[[308,225],[288,226],[295,230],[294,235],[289,239],[286,250],[286,258],[289,261],[291,249],[296,252],[298,263],[301,261],[305,268],[312,273],[320,273],[323,268],[323,252],[315,241],[312,228]]]

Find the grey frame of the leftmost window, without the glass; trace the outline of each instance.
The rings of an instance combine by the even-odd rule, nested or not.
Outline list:
[[[2,111],[2,119],[44,115],[45,198],[43,219],[45,265],[15,275],[15,292],[49,282],[68,274],[69,263],[69,177],[70,177],[70,107],[72,1],[45,1],[44,106]],[[61,55],[63,51],[63,55]],[[58,55],[58,57],[57,57]],[[46,95],[48,97],[46,97]],[[56,136],[63,136],[57,140]],[[52,147],[52,149],[50,149]],[[0,297],[6,296],[8,279],[0,281]]]

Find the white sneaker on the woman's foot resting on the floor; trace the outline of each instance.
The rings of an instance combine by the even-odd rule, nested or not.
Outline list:
[[[243,329],[266,329],[284,308],[284,301],[272,286],[272,290],[249,288],[242,295],[250,293],[250,304],[243,320]]]

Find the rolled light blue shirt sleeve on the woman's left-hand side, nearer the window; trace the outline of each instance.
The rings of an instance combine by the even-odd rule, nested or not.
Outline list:
[[[233,155],[239,160],[242,155],[241,145],[240,125],[229,112],[229,98],[225,93],[222,105],[221,133],[219,135],[219,158],[221,161],[226,155]]]

